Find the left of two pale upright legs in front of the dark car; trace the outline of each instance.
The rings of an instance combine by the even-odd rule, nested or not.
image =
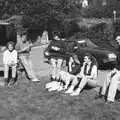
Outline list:
[[[55,80],[56,79],[56,74],[57,74],[56,59],[51,58],[50,62],[51,62],[51,67],[52,67],[51,77],[52,77],[53,80]]]

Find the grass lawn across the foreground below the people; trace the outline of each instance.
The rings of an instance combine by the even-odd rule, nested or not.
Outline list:
[[[94,90],[84,90],[78,97],[48,92],[40,83],[30,83],[23,76],[14,88],[0,87],[0,120],[120,120],[119,103],[107,105],[95,100]]]

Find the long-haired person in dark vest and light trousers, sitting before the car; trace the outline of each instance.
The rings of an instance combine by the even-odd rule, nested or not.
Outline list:
[[[74,77],[71,86],[65,93],[70,93],[71,96],[77,96],[86,85],[100,87],[101,85],[97,81],[97,71],[98,65],[96,59],[89,53],[86,53],[80,73]],[[77,89],[75,89],[76,86]]]

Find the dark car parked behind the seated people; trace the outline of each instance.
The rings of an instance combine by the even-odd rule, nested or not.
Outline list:
[[[66,60],[68,60],[67,58],[71,53],[76,53],[80,60],[82,60],[85,53],[90,53],[98,61],[99,68],[108,65],[114,67],[117,63],[117,57],[120,56],[120,53],[114,48],[108,49],[99,47],[89,39],[65,41],[65,44],[66,52],[64,55],[66,56]],[[44,51],[45,58],[49,59],[53,54],[58,53],[54,51],[50,52],[50,49],[48,48],[46,48]]]

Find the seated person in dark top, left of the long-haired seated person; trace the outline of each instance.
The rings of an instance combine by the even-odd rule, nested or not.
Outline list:
[[[74,76],[77,73],[79,73],[80,67],[81,67],[81,63],[78,59],[78,56],[73,53],[69,58],[68,72],[61,70],[58,75],[60,81],[58,82],[53,81],[53,82],[47,83],[46,88],[48,89],[48,91],[66,90],[68,88],[71,78],[74,78]]]

